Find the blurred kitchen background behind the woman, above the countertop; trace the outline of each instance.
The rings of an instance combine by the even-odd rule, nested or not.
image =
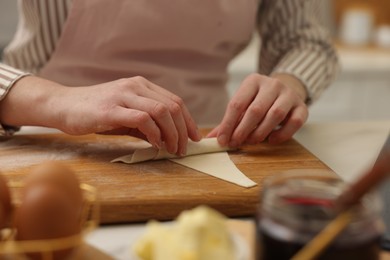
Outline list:
[[[15,0],[0,0],[0,49],[17,26]],[[321,1],[321,20],[334,38],[342,72],[310,108],[309,121],[390,119],[390,1]],[[259,39],[229,66],[229,90],[256,71]]]

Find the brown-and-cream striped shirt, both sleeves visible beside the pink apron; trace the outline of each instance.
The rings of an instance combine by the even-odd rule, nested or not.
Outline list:
[[[317,99],[338,71],[328,32],[320,25],[321,0],[262,0],[258,9],[261,39],[258,72],[287,73]],[[61,36],[72,0],[18,0],[19,25],[0,63],[0,100],[26,73],[48,62]],[[6,131],[0,124],[0,135]]]

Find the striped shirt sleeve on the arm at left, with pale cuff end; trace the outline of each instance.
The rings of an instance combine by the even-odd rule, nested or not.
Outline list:
[[[3,53],[7,65],[0,63],[0,101],[18,79],[29,75],[23,71],[35,73],[47,63],[71,5],[72,0],[18,0],[18,28]],[[18,129],[0,122],[0,135]]]

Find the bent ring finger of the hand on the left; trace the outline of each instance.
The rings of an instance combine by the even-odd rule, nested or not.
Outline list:
[[[142,96],[129,95],[125,98],[125,105],[146,112],[159,127],[167,151],[177,153],[179,134],[166,104]]]

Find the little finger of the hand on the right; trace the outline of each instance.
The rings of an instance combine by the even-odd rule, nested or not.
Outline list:
[[[306,106],[296,107],[294,110],[292,110],[285,124],[270,134],[268,137],[268,142],[271,144],[278,144],[292,138],[292,136],[306,122],[308,116],[309,112]]]

